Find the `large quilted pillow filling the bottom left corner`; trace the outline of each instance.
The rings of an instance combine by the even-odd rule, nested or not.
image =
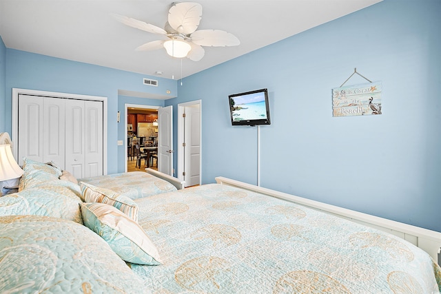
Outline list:
[[[0,293],[150,293],[96,233],[48,216],[0,217]]]

